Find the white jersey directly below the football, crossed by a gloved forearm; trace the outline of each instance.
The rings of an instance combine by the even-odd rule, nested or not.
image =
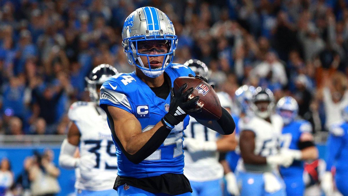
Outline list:
[[[184,130],[185,137],[203,141],[216,141],[218,133],[209,129],[190,116],[190,123]],[[184,151],[184,175],[192,181],[210,181],[223,177],[223,167],[219,163],[219,152],[201,151],[190,153]]]

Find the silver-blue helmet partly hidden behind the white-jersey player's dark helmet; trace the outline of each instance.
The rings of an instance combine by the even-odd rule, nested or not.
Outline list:
[[[240,111],[246,114],[249,111],[249,101],[253,96],[254,86],[243,85],[240,86],[235,93],[238,107]]]

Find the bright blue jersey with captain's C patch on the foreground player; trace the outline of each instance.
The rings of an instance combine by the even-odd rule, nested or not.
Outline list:
[[[187,66],[172,63],[165,69],[171,79],[171,86],[175,78],[195,73]],[[170,93],[166,99],[159,98],[145,84],[135,71],[120,73],[112,76],[101,87],[100,105],[110,105],[121,108],[133,114],[140,122],[142,132],[154,127],[165,114],[170,104]],[[165,173],[182,174],[184,155],[182,150],[183,130],[189,123],[189,116],[172,129],[166,140],[148,158],[139,164],[129,161],[114,140],[118,158],[118,175],[134,178],[147,178]],[[110,126],[110,125],[109,125]]]

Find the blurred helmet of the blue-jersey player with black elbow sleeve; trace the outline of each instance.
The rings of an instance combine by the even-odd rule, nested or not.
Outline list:
[[[276,112],[283,118],[285,125],[291,123],[297,117],[299,111],[299,105],[297,101],[292,97],[282,97],[279,99]]]

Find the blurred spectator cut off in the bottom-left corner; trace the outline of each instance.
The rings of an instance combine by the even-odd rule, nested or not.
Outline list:
[[[13,184],[13,180],[14,176],[10,162],[7,158],[2,158],[0,164],[0,195],[6,195],[7,190]]]

